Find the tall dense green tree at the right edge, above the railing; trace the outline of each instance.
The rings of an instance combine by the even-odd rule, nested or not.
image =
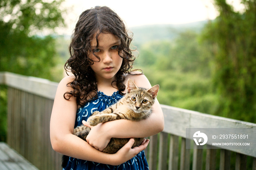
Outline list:
[[[214,84],[223,116],[255,122],[256,0],[242,0],[236,12],[225,0],[215,0],[219,16],[208,24],[204,38],[214,54]]]

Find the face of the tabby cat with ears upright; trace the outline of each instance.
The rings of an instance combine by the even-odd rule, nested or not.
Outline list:
[[[159,85],[155,85],[150,89],[138,88],[132,80],[127,83],[126,101],[129,108],[135,113],[149,111],[155,102]]]

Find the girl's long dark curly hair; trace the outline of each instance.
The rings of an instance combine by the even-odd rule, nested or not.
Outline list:
[[[67,84],[74,90],[64,94],[65,99],[71,96],[76,97],[76,103],[83,105],[89,98],[97,96],[97,82],[94,77],[94,72],[91,69],[94,61],[89,58],[89,53],[93,53],[98,48],[97,37],[101,33],[111,33],[116,35],[121,44],[118,47],[118,54],[123,58],[122,65],[116,74],[116,85],[118,92],[123,95],[125,90],[125,74],[130,73],[134,56],[130,49],[132,35],[127,34],[123,20],[108,7],[95,7],[87,9],[80,16],[76,23],[75,30],[72,34],[71,43],[69,46],[70,58],[65,63],[66,72],[74,74],[74,81]],[[91,49],[91,40],[95,37],[97,46]],[[94,54],[95,55],[95,54]],[[99,60],[100,58],[95,55]],[[112,82],[113,83],[113,82]]]

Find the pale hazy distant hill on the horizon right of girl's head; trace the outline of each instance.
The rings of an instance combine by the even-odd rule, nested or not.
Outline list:
[[[187,24],[146,25],[131,27],[129,31],[133,32],[133,44],[137,46],[153,40],[173,40],[186,30],[200,32],[206,23],[207,20]]]

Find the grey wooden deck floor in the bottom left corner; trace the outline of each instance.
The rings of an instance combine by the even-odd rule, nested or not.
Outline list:
[[[0,170],[38,170],[29,161],[12,150],[6,143],[0,142]]]

